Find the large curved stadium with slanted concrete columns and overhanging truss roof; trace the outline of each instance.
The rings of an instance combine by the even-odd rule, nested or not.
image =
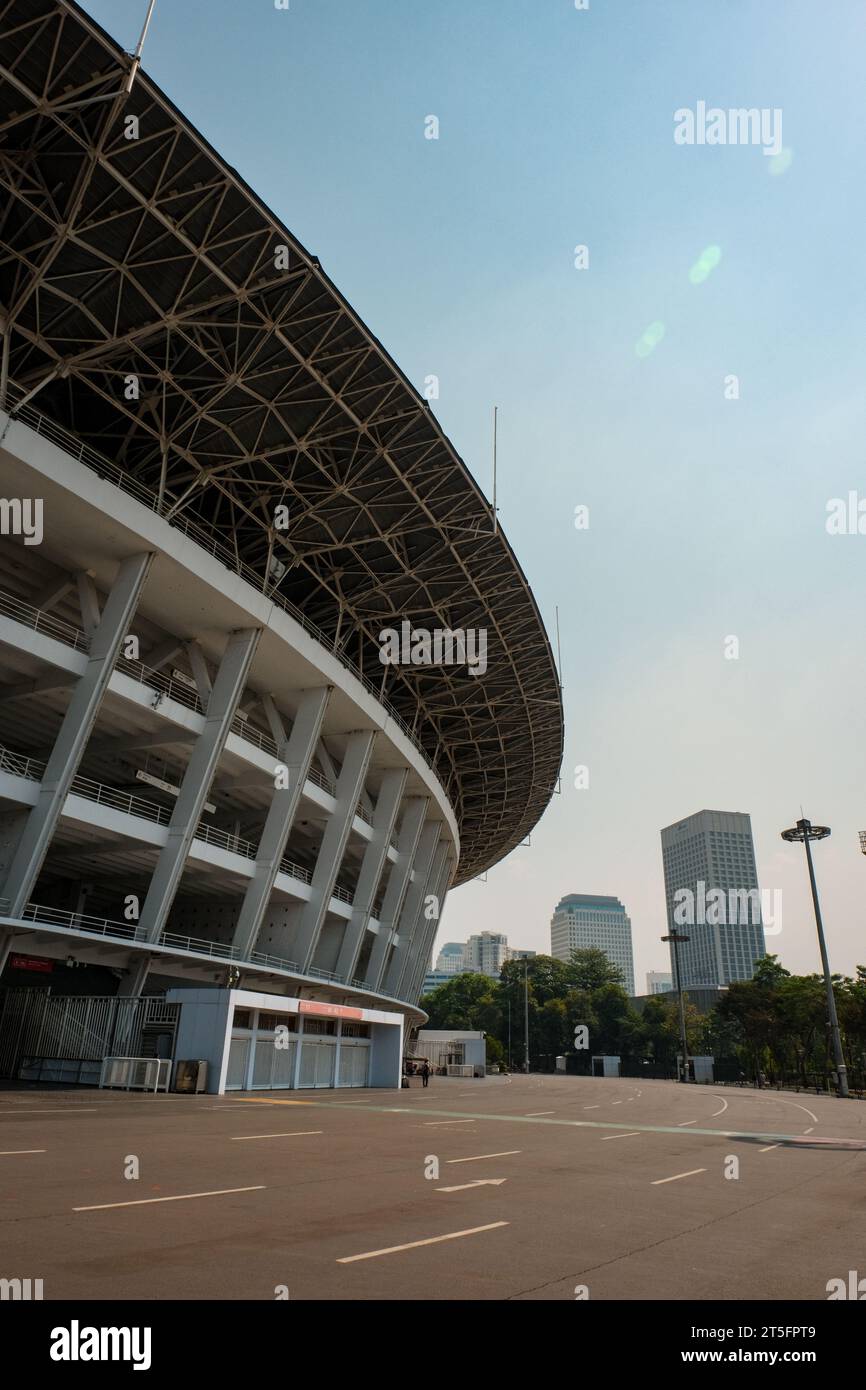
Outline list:
[[[449,890],[556,788],[538,607],[138,58],[70,0],[0,0],[0,1076],[399,1084]]]

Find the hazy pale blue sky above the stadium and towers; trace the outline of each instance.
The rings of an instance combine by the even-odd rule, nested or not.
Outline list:
[[[135,46],[145,0],[86,8]],[[616,894],[641,988],[667,963],[659,830],[706,806],[751,813],[771,949],[816,970],[778,838],[802,803],[833,827],[833,965],[866,963],[866,535],[824,525],[866,498],[865,43],[859,0],[157,0],[147,72],[418,389],[439,377],[488,492],[499,406],[500,521],[550,630],[559,606],[566,759],[531,847],[449,898],[439,942],[549,949],[563,894]],[[676,145],[699,100],[780,108],[790,167]]]

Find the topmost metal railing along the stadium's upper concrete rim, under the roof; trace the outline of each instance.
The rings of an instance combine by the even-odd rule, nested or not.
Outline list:
[[[25,392],[22,391],[21,386],[18,386],[13,381],[8,382],[10,402],[19,400],[24,395]],[[29,428],[33,430],[38,435],[42,435],[44,439],[49,439],[51,443],[56,443],[60,449],[63,449],[65,453],[70,453],[86,468],[90,468],[93,473],[97,474],[97,477],[111,482],[115,488],[120,488],[121,492],[126,492],[129,496],[135,498],[136,502],[140,502],[143,506],[146,506],[150,512],[154,512],[157,516],[161,516],[175,531],[181,531],[182,535],[188,537],[203,550],[207,550],[209,555],[213,555],[214,559],[220,560],[220,563],[224,564],[227,570],[231,570],[234,574],[238,574],[239,578],[246,580],[246,582],[250,584],[253,589],[256,589],[259,594],[267,598],[277,607],[281,607],[285,613],[288,613],[288,616],[292,617],[296,623],[299,623],[300,627],[303,627],[303,630],[310,634],[310,637],[313,637],[321,646],[324,646],[325,651],[328,651],[341,663],[341,666],[343,666],[354,677],[354,680],[360,681],[364,689],[374,696],[377,703],[388,712],[389,717],[395,721],[398,728],[403,733],[403,735],[409,739],[416,752],[420,753],[427,766],[435,774],[434,763],[427,749],[418,739],[414,728],[406,723],[400,712],[396,709],[395,705],[391,703],[391,701],[379,689],[379,687],[374,681],[371,681],[367,676],[364,676],[361,669],[356,666],[354,662],[345,655],[345,652],[338,649],[336,641],[332,637],[328,637],[328,634],[322,628],[320,628],[316,623],[311,623],[310,619],[306,616],[306,613],[302,609],[299,609],[295,603],[292,603],[291,599],[284,598],[282,594],[279,594],[277,589],[271,589],[268,592],[267,578],[263,578],[263,575],[259,574],[252,566],[246,564],[236,553],[236,550],[232,550],[222,541],[218,541],[217,537],[207,530],[207,527],[200,525],[196,521],[190,521],[188,517],[183,517],[178,512],[175,512],[175,507],[181,505],[181,500],[178,498],[167,492],[160,499],[157,492],[153,492],[150,488],[143,486],[143,484],[140,484],[136,478],[128,474],[111,459],[107,459],[104,455],[99,453],[90,445],[83,443],[83,441],[76,438],[76,435],[71,434],[63,425],[57,424],[57,421],[50,420],[47,416],[43,416],[42,411],[36,410],[31,404],[18,407],[13,404],[11,417],[14,420],[21,420],[24,424],[29,425]]]

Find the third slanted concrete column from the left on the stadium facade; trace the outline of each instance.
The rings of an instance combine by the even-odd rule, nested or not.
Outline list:
[[[289,738],[285,735],[282,720],[274,702],[267,695],[264,698],[268,723],[279,749],[279,760],[288,767],[288,787],[274,790],[261,840],[259,841],[256,873],[247,884],[240,905],[234,945],[239,948],[242,958],[249,956],[256,947],[261,920],[271,898],[271,890],[274,888],[274,880],[279,873],[279,860],[282,859],[292,823],[297,813],[303,784],[307,780],[310,763],[316,753],[329,696],[329,685],[304,692]]]

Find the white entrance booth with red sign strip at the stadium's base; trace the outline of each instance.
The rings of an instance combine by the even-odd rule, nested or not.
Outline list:
[[[211,1095],[400,1086],[402,1013],[252,990],[167,998],[182,1005],[177,1055],[207,1062]]]

